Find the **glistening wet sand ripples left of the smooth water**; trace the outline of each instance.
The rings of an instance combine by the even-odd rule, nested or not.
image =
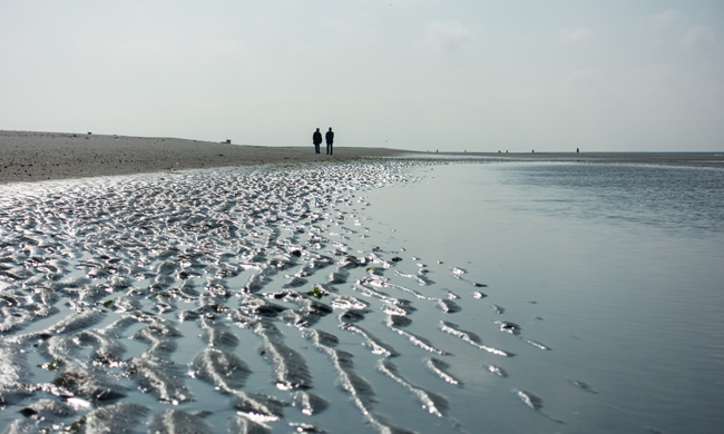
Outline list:
[[[507,364],[550,348],[495,288],[366,227],[364,191],[425,164],[4,188],[0,430],[476,432],[454,400],[476,378],[540,413]]]

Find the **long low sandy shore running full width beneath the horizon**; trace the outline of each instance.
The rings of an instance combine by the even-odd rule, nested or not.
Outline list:
[[[0,184],[136,175],[264,164],[350,161],[364,157],[489,158],[491,160],[653,164],[724,168],[721,156],[627,152],[429,152],[390,148],[253,146],[162,137],[0,131]]]

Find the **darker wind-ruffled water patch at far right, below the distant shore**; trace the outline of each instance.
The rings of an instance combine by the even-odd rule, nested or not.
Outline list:
[[[724,177],[720,169],[535,165],[509,166],[503,171],[513,175],[503,183],[528,189],[531,207],[541,211],[549,208],[556,215],[623,220],[624,225],[724,231]],[[540,198],[536,197],[539,191]],[[547,206],[537,204],[546,200]]]

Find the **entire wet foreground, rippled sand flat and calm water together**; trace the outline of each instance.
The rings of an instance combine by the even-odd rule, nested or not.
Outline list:
[[[715,432],[721,174],[391,161],[2,187],[0,427]]]

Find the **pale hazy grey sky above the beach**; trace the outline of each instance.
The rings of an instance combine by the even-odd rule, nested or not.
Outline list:
[[[0,0],[0,129],[724,150],[722,0]]]

